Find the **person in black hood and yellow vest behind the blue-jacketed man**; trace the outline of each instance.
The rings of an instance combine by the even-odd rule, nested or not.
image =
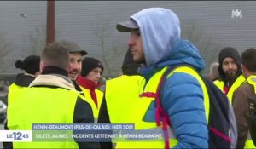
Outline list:
[[[145,80],[137,73],[139,66],[132,60],[131,50],[128,49],[121,66],[122,75],[107,80],[105,100],[102,102],[107,104],[110,123],[135,123],[132,117],[127,117],[127,113],[136,106],[140,89],[143,89]]]

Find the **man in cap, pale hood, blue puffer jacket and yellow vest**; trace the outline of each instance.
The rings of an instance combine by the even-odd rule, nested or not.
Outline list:
[[[146,80],[142,92],[139,93],[140,103],[137,104],[137,110],[129,114],[134,115],[135,129],[160,129],[155,98],[158,97],[157,87],[166,68],[184,64],[200,72],[204,68],[204,61],[193,44],[180,38],[179,19],[172,10],[143,9],[131,15],[130,20],[119,23],[117,30],[131,32],[127,44],[131,48],[133,60],[144,65],[139,70],[139,74]],[[168,75],[160,90],[163,110],[172,123],[172,128],[168,128],[169,140],[123,142],[117,148],[208,147],[205,95],[198,73],[193,68],[182,66],[175,69]]]

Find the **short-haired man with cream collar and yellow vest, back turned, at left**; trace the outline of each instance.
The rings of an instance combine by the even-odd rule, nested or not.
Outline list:
[[[32,130],[32,123],[94,123],[90,105],[68,78],[69,54],[60,43],[49,44],[41,55],[42,75],[9,96],[10,130]],[[25,104],[26,108],[20,107]],[[14,142],[14,148],[98,148],[98,143],[69,141]]]

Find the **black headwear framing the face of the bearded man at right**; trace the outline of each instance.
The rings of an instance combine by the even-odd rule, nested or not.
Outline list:
[[[221,51],[218,54],[218,72],[220,77],[224,77],[224,72],[222,70],[222,62],[224,58],[230,57],[235,60],[237,68],[238,68],[238,73],[237,75],[241,74],[241,57],[240,54],[238,53],[237,49],[232,48],[232,47],[225,47],[224,49],[221,49]]]

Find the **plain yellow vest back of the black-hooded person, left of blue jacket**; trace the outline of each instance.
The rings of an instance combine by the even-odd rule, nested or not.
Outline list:
[[[107,81],[105,99],[111,123],[134,123],[134,116],[126,113],[133,111],[144,83],[144,77],[126,75]]]

